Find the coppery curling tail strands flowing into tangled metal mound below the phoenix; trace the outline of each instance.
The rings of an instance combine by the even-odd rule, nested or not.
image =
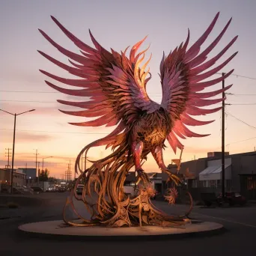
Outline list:
[[[127,172],[134,165],[133,157],[129,144],[127,144],[128,130],[121,134],[112,134],[103,139],[89,144],[79,153],[76,159],[76,171],[80,171],[75,187],[71,190],[71,195],[63,210],[63,219],[67,225],[73,226],[91,226],[106,225],[112,227],[121,227],[123,225],[132,225],[132,223],[161,224],[164,222],[172,225],[183,225],[183,216],[168,216],[157,210],[150,202],[150,195],[147,189],[140,189],[140,194],[135,198],[130,198],[124,193],[124,181]],[[90,168],[82,171],[79,168],[82,153],[85,154],[91,147],[97,145],[106,145],[111,147],[113,153],[103,159],[93,162]],[[148,152],[144,152],[142,159]],[[92,161],[91,161],[92,162]],[[85,176],[85,174],[87,174]],[[76,193],[76,188],[81,183],[82,177],[85,177],[85,186],[82,191],[82,197]],[[95,198],[92,198],[92,195]],[[91,219],[85,219],[79,215],[73,204],[73,197],[85,204],[88,212],[91,213]],[[92,200],[90,200],[92,199]],[[95,202],[96,201],[96,202]],[[82,223],[68,221],[65,216],[65,210],[71,206],[73,213],[81,219]],[[144,214],[146,213],[146,215]]]

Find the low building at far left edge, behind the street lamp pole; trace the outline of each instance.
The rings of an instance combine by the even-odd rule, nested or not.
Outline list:
[[[11,183],[11,169],[0,168],[0,183],[1,185],[10,186]],[[14,169],[13,170],[13,186],[25,186],[25,174]]]

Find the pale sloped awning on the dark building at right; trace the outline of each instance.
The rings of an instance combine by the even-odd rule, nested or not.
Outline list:
[[[222,165],[208,166],[199,174],[199,180],[221,180]],[[231,180],[231,165],[225,165],[225,180]]]

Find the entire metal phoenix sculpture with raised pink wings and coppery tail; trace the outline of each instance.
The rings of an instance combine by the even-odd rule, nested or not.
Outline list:
[[[138,52],[138,48],[146,37],[132,46],[129,56],[127,56],[129,47],[121,53],[115,52],[113,49],[109,52],[95,40],[91,31],[89,33],[94,48],[71,34],[52,16],[53,21],[61,28],[61,31],[79,47],[80,54],[77,54],[64,49],[40,30],[40,33],[52,46],[55,46],[58,51],[69,58],[72,66],[61,63],[39,51],[40,54],[58,67],[67,70],[68,73],[79,77],[79,79],[65,79],[40,70],[50,79],[74,88],[80,88],[61,88],[53,85],[52,82],[46,81],[47,85],[63,94],[82,97],[82,101],[77,102],[58,100],[58,103],[82,109],[79,111],[61,110],[61,112],[82,118],[97,118],[93,121],[70,124],[79,127],[101,127],[103,125],[116,127],[105,138],[100,138],[85,146],[77,156],[75,171],[79,174],[79,177],[64,207],[64,222],[68,225],[177,226],[187,222],[186,216],[168,216],[151,203],[150,177],[141,165],[143,159],[146,159],[147,155],[151,153],[159,168],[162,172],[168,174],[169,180],[174,186],[182,183],[180,177],[168,171],[165,165],[162,156],[165,141],[168,141],[174,153],[176,153],[177,148],[183,150],[183,144],[180,143],[179,138],[207,136],[192,132],[187,126],[201,126],[213,122],[198,121],[192,116],[207,115],[222,109],[222,107],[201,109],[204,106],[221,103],[225,98],[208,98],[222,94],[231,88],[231,85],[229,85],[217,91],[201,92],[205,88],[210,88],[210,86],[222,82],[223,79],[231,75],[233,70],[225,73],[224,76],[213,77],[237,55],[236,52],[224,62],[210,69],[237,40],[237,37],[234,37],[218,55],[207,59],[207,56],[222,39],[231,23],[230,19],[218,37],[213,40],[213,43],[210,43],[210,46],[201,51],[201,46],[213,30],[218,17],[219,13],[216,14],[204,34],[192,46],[188,47],[188,31],[185,43],[181,43],[168,55],[163,54],[159,74],[162,85],[161,104],[150,100],[146,91],[147,82],[151,78],[150,70],[146,70],[150,59],[143,65],[141,65],[141,62],[144,61],[145,52],[148,48]],[[205,81],[210,77],[213,78]],[[90,100],[88,100],[88,97]],[[112,153],[103,159],[91,161],[91,167],[82,171],[80,160],[83,153],[86,156],[91,147],[103,145],[106,148],[112,147]],[[124,193],[124,181],[133,166],[135,166],[140,189],[138,195],[132,198]],[[76,193],[76,186],[81,183],[81,180],[85,180],[85,186],[82,196],[79,196]],[[167,198],[170,203],[174,203],[177,190],[173,187],[169,191],[170,194]],[[89,200],[92,196],[97,197],[96,203]],[[91,213],[91,219],[85,219],[77,213],[73,198],[85,204],[85,207]],[[67,206],[73,208],[74,213],[82,222],[67,220],[65,215]]]

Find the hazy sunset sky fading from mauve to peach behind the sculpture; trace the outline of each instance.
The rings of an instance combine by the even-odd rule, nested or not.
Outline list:
[[[187,28],[190,29],[190,45],[203,34],[218,11],[219,20],[204,43],[207,47],[224,28],[228,19],[233,17],[228,31],[209,55],[213,57],[222,50],[229,41],[239,35],[237,42],[222,57],[221,62],[239,51],[238,55],[222,72],[235,69],[234,74],[225,81],[225,85],[234,84],[227,95],[226,111],[230,114],[225,118],[225,144],[230,153],[242,153],[255,150],[256,146],[256,80],[240,76],[256,78],[255,73],[255,41],[256,41],[256,1],[64,1],[64,0],[1,0],[0,1],[0,109],[7,112],[20,113],[16,119],[16,144],[14,168],[35,167],[35,153],[38,150],[40,166],[44,157],[45,167],[50,175],[61,177],[71,161],[71,169],[79,151],[86,144],[102,138],[115,127],[75,127],[68,122],[82,122],[82,118],[64,115],[58,109],[69,110],[56,100],[80,100],[56,93],[45,84],[46,79],[38,70],[46,70],[56,76],[69,78],[64,70],[43,58],[37,49],[68,64],[67,58],[48,43],[37,30],[41,28],[53,40],[64,48],[79,52],[76,46],[62,33],[52,21],[55,16],[76,37],[92,46],[88,34],[90,28],[94,37],[106,49],[120,52],[132,46],[145,35],[148,35],[142,48],[146,48],[147,57],[152,52],[150,72],[152,79],[147,85],[147,94],[152,100],[162,99],[159,82],[159,64],[162,51],[170,52],[186,40]],[[217,76],[215,76],[217,77]],[[50,80],[50,79],[49,79]],[[56,85],[59,85],[57,82]],[[221,88],[213,86],[210,90]],[[246,94],[246,95],[240,95]],[[232,105],[234,104],[234,105]],[[236,105],[237,104],[237,105]],[[232,117],[233,115],[234,117]],[[221,112],[200,120],[216,120],[204,127],[192,127],[194,132],[210,133],[205,138],[187,138],[181,140],[185,145],[183,161],[207,156],[207,152],[221,150],[220,131]],[[252,127],[244,124],[250,124]],[[12,148],[13,116],[0,112],[0,166],[7,164],[6,148]],[[95,147],[88,153],[89,159],[107,156],[109,150]],[[164,152],[166,165],[171,159],[179,157],[170,147]],[[151,156],[144,164],[147,171],[159,171]]]

